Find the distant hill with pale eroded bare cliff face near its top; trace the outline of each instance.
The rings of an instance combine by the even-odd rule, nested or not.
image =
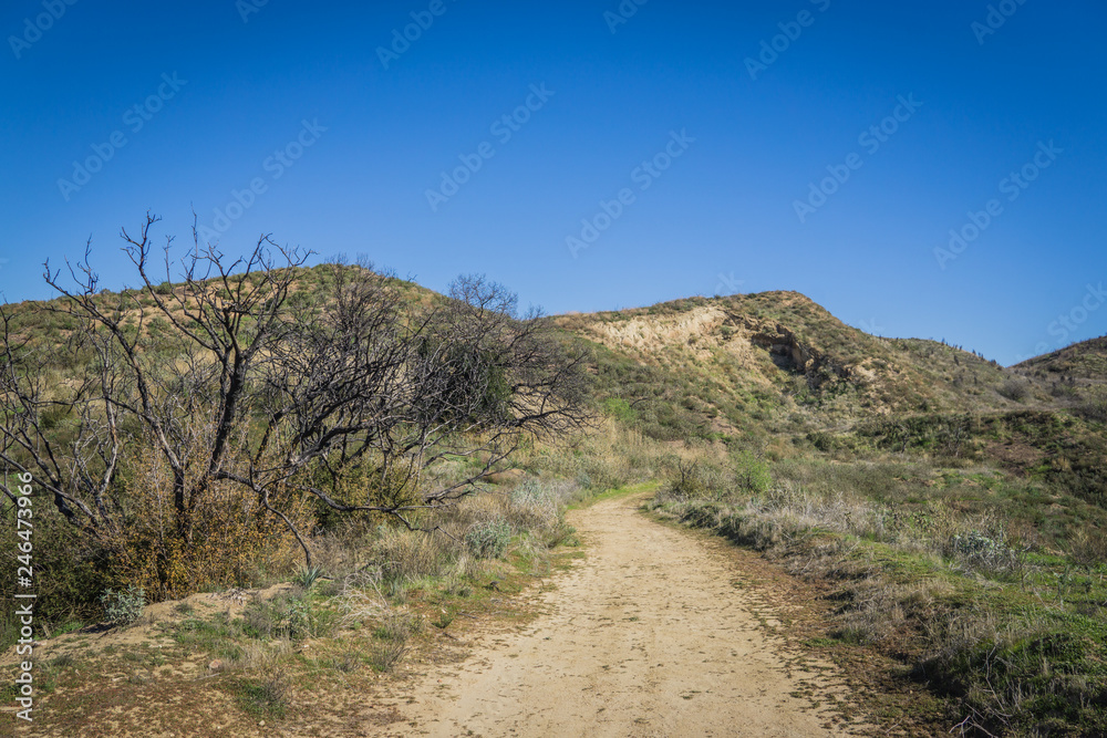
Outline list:
[[[799,430],[1049,402],[1030,383],[1008,392],[1018,380],[994,362],[934,341],[869,335],[797,292],[690,298],[558,321],[598,349],[601,388],[615,410],[675,429],[699,420],[700,435],[751,423]],[[685,417],[654,417],[661,401],[676,401]]]

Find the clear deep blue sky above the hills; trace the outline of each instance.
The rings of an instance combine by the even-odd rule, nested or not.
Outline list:
[[[1004,364],[1107,332],[1099,0],[69,1],[0,10],[7,301],[90,236],[133,284],[120,227],[195,208],[549,312],[788,289]]]

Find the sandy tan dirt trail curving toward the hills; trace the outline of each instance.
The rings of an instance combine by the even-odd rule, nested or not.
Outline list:
[[[540,595],[548,614],[416,685],[404,734],[845,735],[811,698],[790,696],[815,682],[825,705],[835,689],[788,675],[794,654],[761,625],[766,606],[742,573],[639,514],[641,501],[575,513],[588,558]]]

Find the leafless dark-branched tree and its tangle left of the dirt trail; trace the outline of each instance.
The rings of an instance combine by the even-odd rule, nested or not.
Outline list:
[[[122,231],[138,290],[99,292],[87,247],[68,280],[46,266],[60,299],[45,309],[79,325],[63,350],[91,356],[64,386],[46,386],[48,356],[0,309],[0,461],[31,471],[93,537],[118,532],[121,459],[135,444],[169,469],[183,544],[213,486],[230,484],[283,520],[310,565],[308,531],[286,509],[297,496],[416,527],[410,513],[472,492],[528,436],[588,420],[583,355],[540,314],[517,315],[499,284],[463,278],[448,299],[431,298],[371,264],[333,263],[317,268],[324,285],[309,291],[307,252],[265,236],[230,260],[194,227],[169,288],[172,239],[154,274],[157,221]],[[51,412],[69,418],[65,433]],[[427,486],[424,470],[446,455],[482,462]],[[337,499],[327,480],[353,466],[372,470],[375,491]]]

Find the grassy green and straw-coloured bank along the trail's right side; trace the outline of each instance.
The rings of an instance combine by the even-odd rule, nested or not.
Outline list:
[[[1068,555],[1043,545],[1027,508],[1012,507],[1037,492],[1012,492],[986,467],[792,459],[775,470],[763,492],[735,477],[693,496],[674,493],[672,475],[652,505],[828,588],[829,634],[911,666],[948,698],[954,734],[1107,735],[1107,544],[1095,528],[1070,529]]]

